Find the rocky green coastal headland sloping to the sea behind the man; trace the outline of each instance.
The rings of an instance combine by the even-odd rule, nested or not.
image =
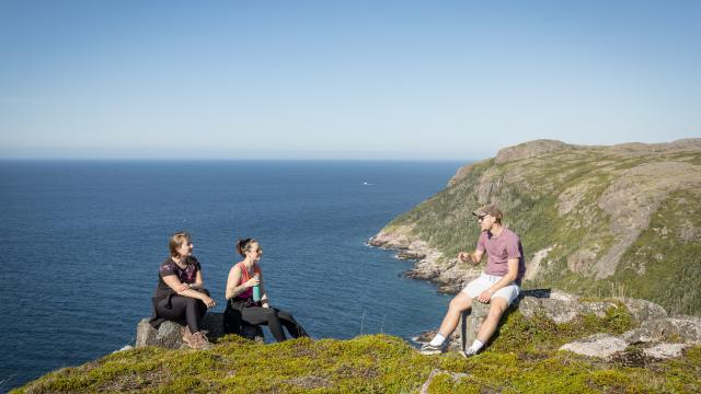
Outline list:
[[[573,146],[537,140],[459,169],[446,189],[370,244],[417,259],[410,276],[455,292],[482,267],[459,263],[479,235],[472,210],[505,211],[521,236],[525,288],[652,300],[700,314],[701,139]]]

